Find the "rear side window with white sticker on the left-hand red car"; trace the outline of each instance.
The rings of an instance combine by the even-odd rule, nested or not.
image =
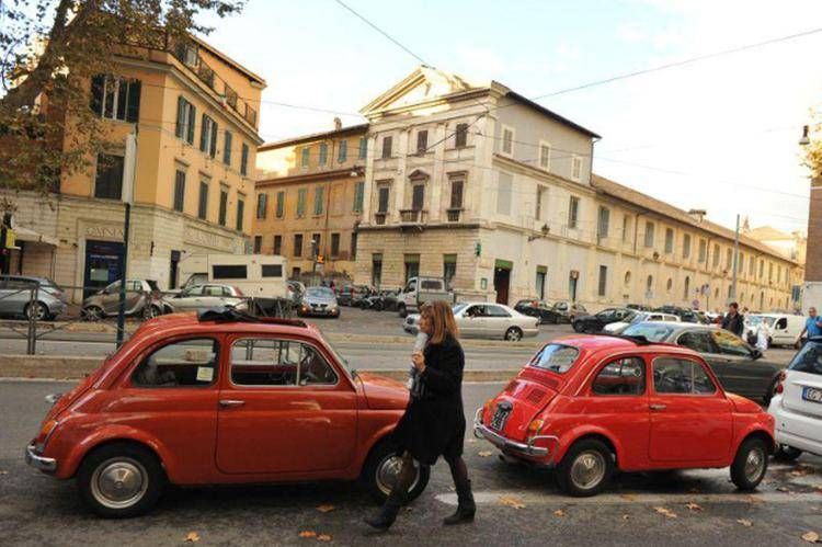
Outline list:
[[[132,384],[140,387],[202,387],[217,379],[217,341],[196,338],[155,350],[137,366]]]

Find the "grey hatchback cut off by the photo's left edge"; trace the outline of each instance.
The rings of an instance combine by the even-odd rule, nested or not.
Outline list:
[[[32,290],[36,287],[36,301]],[[66,311],[66,293],[48,277],[0,276],[0,316],[49,321]]]

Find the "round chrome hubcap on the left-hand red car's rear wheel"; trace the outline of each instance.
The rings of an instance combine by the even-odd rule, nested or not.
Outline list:
[[[132,458],[104,461],[91,477],[91,493],[109,509],[134,505],[148,490],[148,474],[142,465]]]

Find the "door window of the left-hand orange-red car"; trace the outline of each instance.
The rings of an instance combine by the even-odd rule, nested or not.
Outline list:
[[[238,386],[333,385],[336,373],[309,344],[242,339],[231,346],[231,381]]]

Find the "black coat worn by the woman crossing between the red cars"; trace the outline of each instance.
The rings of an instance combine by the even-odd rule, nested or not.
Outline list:
[[[423,355],[422,396],[409,400],[392,438],[398,454],[408,451],[421,464],[434,465],[441,455],[463,455],[465,354],[457,340],[446,337],[441,344],[429,343]]]

